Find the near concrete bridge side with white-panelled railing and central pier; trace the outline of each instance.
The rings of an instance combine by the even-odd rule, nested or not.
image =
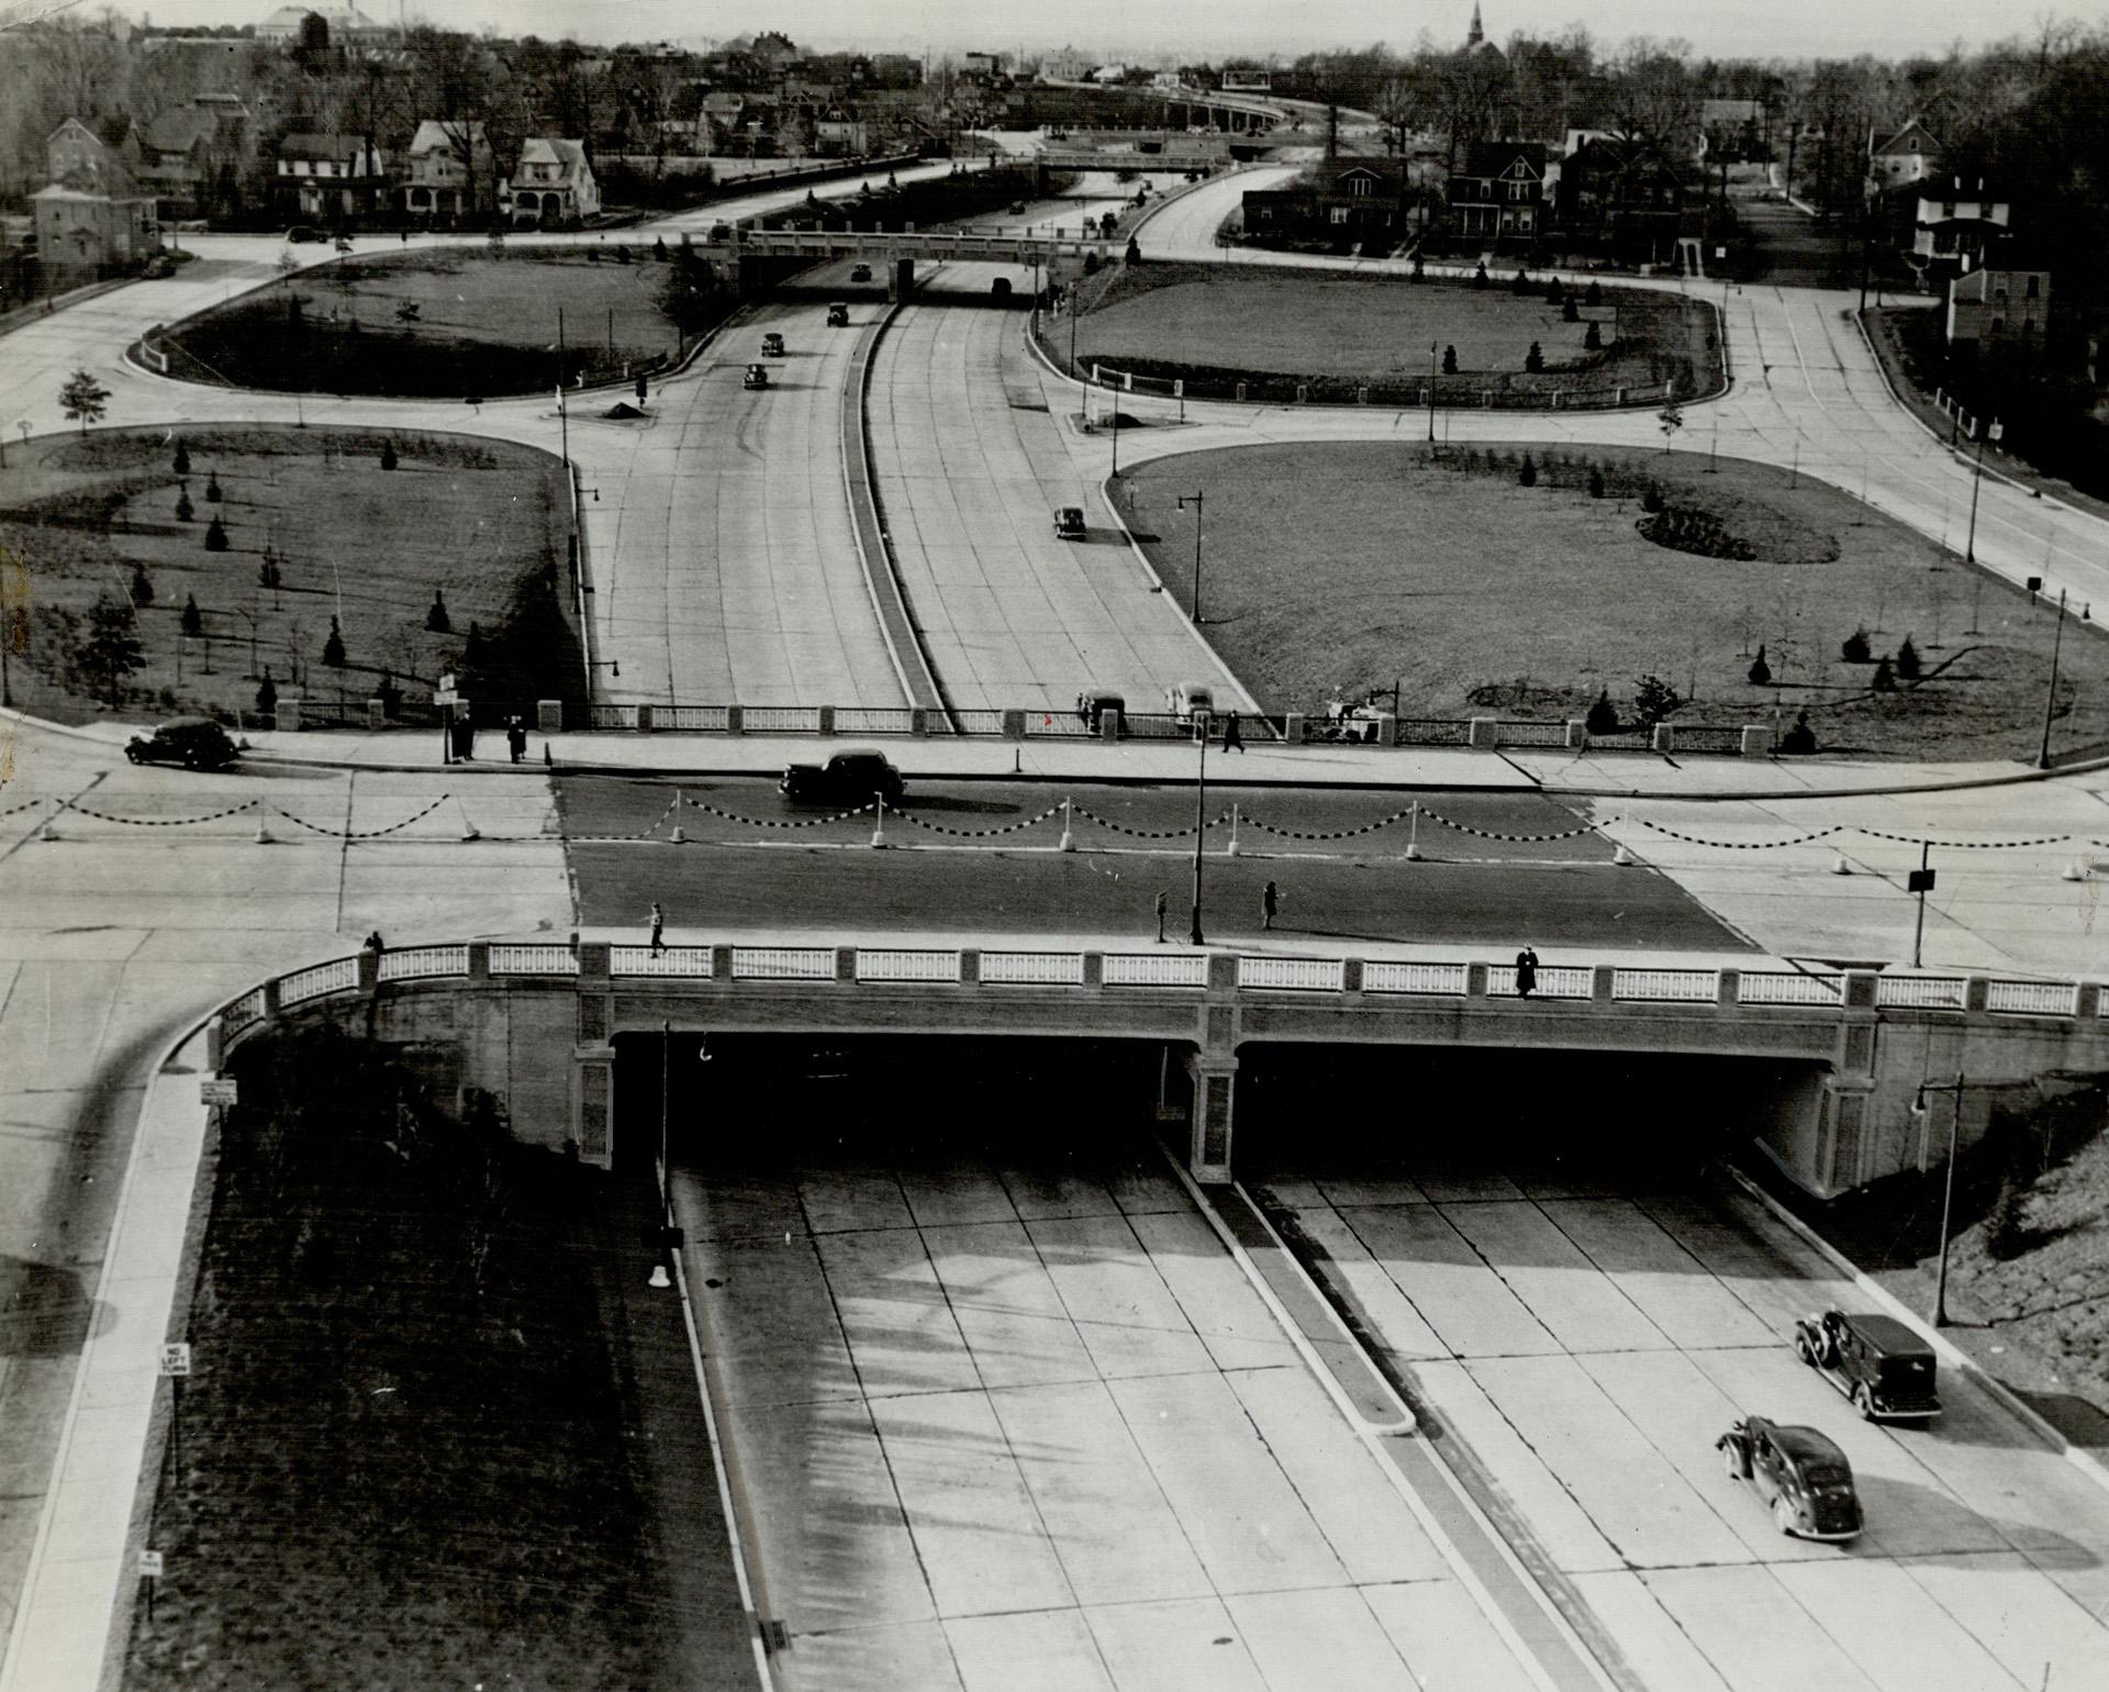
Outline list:
[[[456,1084],[506,1103],[519,1137],[616,1156],[620,1044],[664,1032],[1135,1040],[1179,1059],[1196,1177],[1232,1177],[1240,1061],[1268,1044],[1453,1046],[1719,1059],[1734,1084],[1694,1101],[1694,1135],[1750,1133],[1812,1192],[1938,1162],[1947,1112],[1968,1143],[1991,1093],[2046,1072],[2109,1070],[2109,992],[2092,981],[1810,970],[1750,954],[1717,968],[1647,954],[1537,970],[1472,958],[960,945],[411,945],[264,981],[224,1006],[209,1057],[289,1017],[329,1017],[437,1053]],[[635,1049],[635,1038],[631,1040]],[[656,1053],[654,1044],[654,1053]],[[635,1059],[633,1059],[635,1061]],[[654,1084],[658,1055],[654,1063]],[[1938,1139],[1913,1110],[1926,1076]],[[1137,1099],[1137,1120],[1147,1120]],[[1400,1133],[1411,1133],[1402,1118]]]

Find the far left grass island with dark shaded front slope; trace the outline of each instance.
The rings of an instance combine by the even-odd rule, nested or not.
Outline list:
[[[171,376],[232,388],[422,399],[550,390],[559,310],[574,378],[677,354],[679,331],[658,306],[673,266],[652,251],[633,238],[502,257],[443,247],[340,259],[181,323],[156,346]],[[730,312],[734,302],[723,304]]]

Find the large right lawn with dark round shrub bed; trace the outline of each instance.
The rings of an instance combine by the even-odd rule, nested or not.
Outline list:
[[[1518,483],[1525,451],[1533,487]],[[1685,722],[1765,724],[1780,707],[1784,728],[1807,709],[1826,753],[2031,760],[2042,734],[2054,627],[2042,603],[1772,466],[1329,443],[1160,458],[1126,481],[1130,521],[1181,601],[1194,517],[1175,496],[1206,492],[1208,637],[1270,709],[1390,696],[1396,679],[1409,717],[1582,717],[1609,690],[1630,719],[1634,679],[1651,673],[1687,696]],[[1649,540],[1649,485],[1666,532],[1748,557]],[[1862,627],[1873,658],[1909,635],[1923,677],[1875,692],[1875,665],[1841,654]],[[1759,646],[1767,686],[1748,681]],[[2109,741],[2109,652],[2073,618],[2058,673],[2054,747]]]

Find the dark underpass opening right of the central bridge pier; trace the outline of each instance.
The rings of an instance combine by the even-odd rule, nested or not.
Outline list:
[[[1238,1053],[1236,1173],[1483,1171],[1677,1188],[1812,1120],[1810,1061],[1556,1046],[1253,1042]]]

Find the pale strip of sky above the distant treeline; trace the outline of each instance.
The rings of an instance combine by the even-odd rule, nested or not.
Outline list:
[[[2006,36],[2031,36],[2046,11],[2088,27],[2109,25],[2109,0],[2018,6],[1982,0],[1769,0],[1763,6],[1698,6],[1691,0],[1481,0],[1495,42],[1523,30],[1554,34],[1582,23],[1607,46],[1628,36],[1683,38],[1713,57],[1909,57],[1966,49]],[[0,19],[55,11],[93,13],[95,0],[15,0]],[[274,0],[148,0],[118,4],[127,17],[158,25],[257,23]],[[1426,30],[1436,42],[1462,42],[1472,0],[1069,0],[1059,8],[1019,0],[365,0],[361,11],[394,21],[401,11],[451,30],[515,36],[576,36],[582,42],[698,40],[782,30],[820,49],[863,44],[886,51],[1042,51],[1076,46],[1092,55],[1213,59],[1225,53],[1286,55],[1384,42],[1409,51]]]

